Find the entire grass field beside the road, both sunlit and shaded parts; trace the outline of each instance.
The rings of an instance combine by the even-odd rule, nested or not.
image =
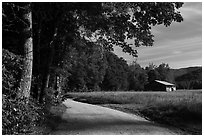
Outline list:
[[[188,134],[202,133],[202,91],[176,92],[85,92],[67,97],[141,115],[178,127]]]

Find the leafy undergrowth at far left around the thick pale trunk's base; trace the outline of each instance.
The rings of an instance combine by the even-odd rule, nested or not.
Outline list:
[[[43,122],[43,107],[34,100],[27,104],[17,98],[22,70],[22,57],[2,51],[2,133],[32,134],[33,127]]]

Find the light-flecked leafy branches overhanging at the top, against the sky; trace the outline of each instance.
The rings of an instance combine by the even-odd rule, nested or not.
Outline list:
[[[95,6],[91,7],[84,16],[79,16],[85,30],[91,30],[92,33],[98,34],[96,39],[109,50],[113,49],[113,45],[117,45],[122,47],[124,52],[133,56],[137,56],[137,51],[127,43],[127,39],[134,39],[136,47],[152,46],[152,26],[160,24],[170,26],[173,21],[183,21],[178,11],[183,3],[119,2],[90,5]],[[86,6],[86,8],[89,7]],[[89,12],[93,14],[89,15]]]

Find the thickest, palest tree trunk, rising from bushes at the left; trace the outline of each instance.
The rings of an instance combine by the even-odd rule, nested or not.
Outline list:
[[[27,24],[23,30],[24,43],[24,62],[20,82],[20,97],[26,98],[27,102],[30,97],[31,80],[32,80],[32,65],[33,65],[33,38],[32,38],[32,12],[31,3],[24,6],[23,20]]]

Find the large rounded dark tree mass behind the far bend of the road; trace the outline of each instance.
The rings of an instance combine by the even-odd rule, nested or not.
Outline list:
[[[107,65],[101,47],[80,39],[73,44],[67,49],[62,66],[69,73],[66,90],[100,90]]]

